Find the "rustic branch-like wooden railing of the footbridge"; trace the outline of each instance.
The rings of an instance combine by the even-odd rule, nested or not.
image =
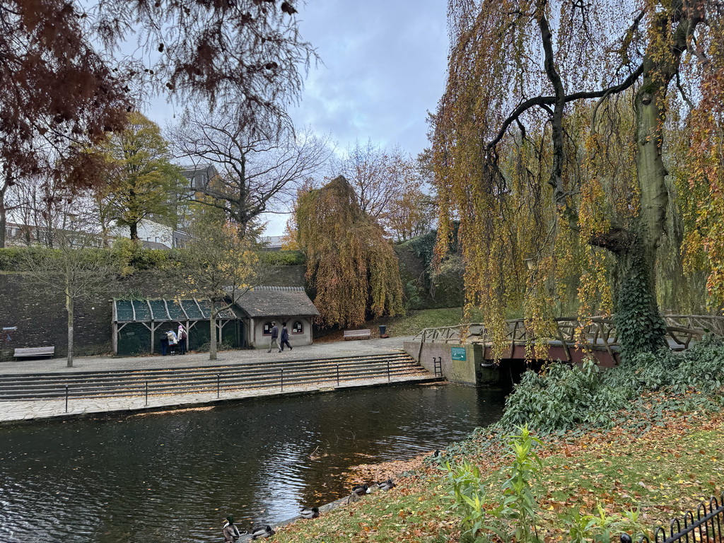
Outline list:
[[[666,336],[668,345],[675,350],[687,349],[692,340],[701,340],[704,334],[724,336],[724,316],[710,315],[666,315]],[[618,335],[612,318],[593,316],[589,319],[560,317],[554,319],[555,332],[550,337],[533,337],[526,327],[525,319],[505,321],[505,339],[510,345],[528,345],[544,341],[569,347],[582,347],[613,351],[620,348]],[[483,343],[492,344],[492,336],[483,323],[458,324],[454,327],[426,328],[415,337],[420,342],[442,343]]]

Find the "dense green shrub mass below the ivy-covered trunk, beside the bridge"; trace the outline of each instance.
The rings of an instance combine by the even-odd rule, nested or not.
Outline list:
[[[565,432],[581,424],[610,427],[615,411],[630,406],[644,392],[667,392],[669,407],[720,405],[724,383],[724,340],[707,339],[682,352],[660,350],[631,357],[599,371],[593,361],[583,367],[552,363],[536,374],[526,371],[505,401],[502,429],[529,424],[542,434]],[[684,397],[687,392],[701,392]]]

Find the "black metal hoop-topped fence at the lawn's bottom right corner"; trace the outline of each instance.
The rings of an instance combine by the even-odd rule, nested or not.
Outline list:
[[[712,496],[708,502],[700,502],[694,511],[687,511],[683,517],[675,518],[665,526],[654,530],[654,543],[724,543],[722,524],[724,523],[724,494]],[[642,535],[639,543],[650,543],[649,537]],[[631,543],[631,536],[623,534],[621,543]]]

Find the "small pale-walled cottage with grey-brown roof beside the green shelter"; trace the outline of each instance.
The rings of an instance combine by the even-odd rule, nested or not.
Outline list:
[[[254,287],[245,292],[236,303],[245,320],[246,345],[269,348],[272,323],[279,330],[287,323],[292,347],[312,344],[312,321],[319,311],[303,287]]]

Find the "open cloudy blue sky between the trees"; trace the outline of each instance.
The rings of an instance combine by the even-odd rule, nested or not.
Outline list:
[[[303,41],[321,57],[310,68],[297,127],[329,135],[343,151],[355,140],[400,146],[416,156],[428,146],[427,111],[435,111],[447,69],[445,0],[295,2]],[[148,117],[172,120],[169,108]],[[167,115],[167,119],[159,117]],[[266,235],[282,235],[287,216],[266,214]]]

